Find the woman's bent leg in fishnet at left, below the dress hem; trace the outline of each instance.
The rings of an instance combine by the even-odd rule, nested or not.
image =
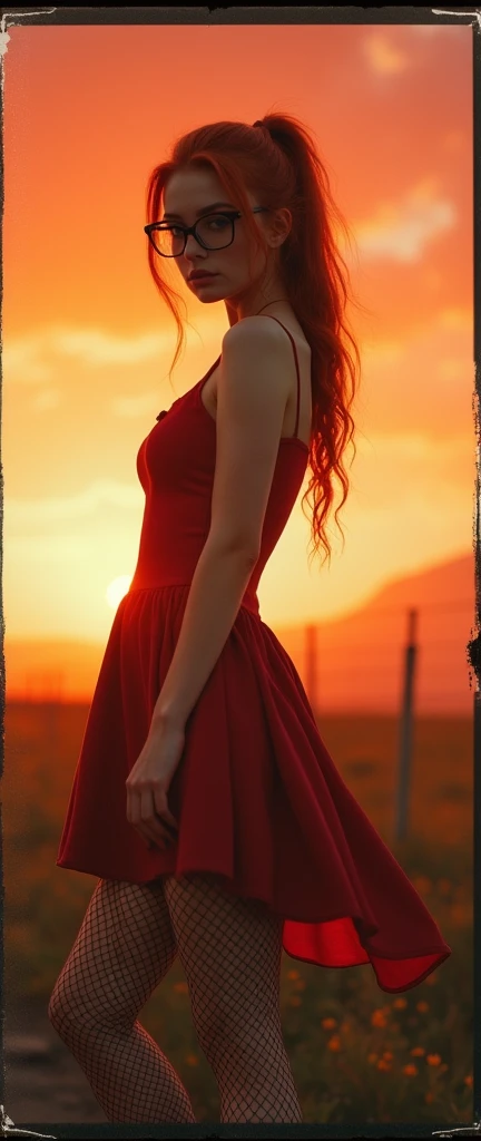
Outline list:
[[[48,1013],[109,1122],[195,1122],[187,1091],[137,1015],[177,955],[162,880],[99,880]]]

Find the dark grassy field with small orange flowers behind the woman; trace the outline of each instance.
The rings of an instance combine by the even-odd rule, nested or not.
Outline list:
[[[84,705],[26,703],[6,711],[5,981],[24,1012],[28,1002],[32,1010],[44,1002],[46,1023],[49,994],[96,883],[55,866],[87,713]],[[334,971],[283,956],[284,1038],[304,1122],[471,1123],[473,723],[416,722],[409,836],[402,844],[393,835],[398,722],[323,715],[319,730],[453,955],[402,996],[381,992],[368,965]],[[141,1021],[180,1074],[197,1119],[218,1122],[217,1084],[196,1037],[179,961]],[[42,1119],[50,1120],[48,1090]],[[80,1107],[68,1119],[87,1117]]]

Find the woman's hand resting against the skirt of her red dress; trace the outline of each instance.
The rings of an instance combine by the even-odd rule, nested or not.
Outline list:
[[[125,780],[127,819],[147,848],[168,847],[178,823],[168,804],[168,791],[185,746],[182,726],[156,722]],[[171,831],[169,831],[171,830]]]

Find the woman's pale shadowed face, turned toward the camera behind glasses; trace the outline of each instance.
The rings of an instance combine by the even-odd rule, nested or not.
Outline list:
[[[248,191],[247,197],[253,207],[261,204]],[[160,220],[184,222],[186,226],[194,226],[202,213],[236,210],[235,204],[228,202],[226,191],[215,172],[194,167],[171,175],[164,189],[163,205],[164,213]],[[269,241],[271,224],[269,225],[269,221],[266,224],[266,219],[271,219],[272,216],[255,213],[253,217],[256,225],[263,228]],[[255,251],[250,267],[251,240],[247,236],[244,219],[237,218],[234,226],[234,241],[223,250],[204,250],[194,235],[189,234],[184,254],[176,258],[179,272],[199,301],[206,304],[223,300],[240,302],[246,301],[251,294],[258,292],[260,280],[267,269],[266,258],[262,250]],[[274,245],[276,244],[278,242],[274,240]],[[205,273],[212,273],[215,276],[199,278],[197,282],[189,281],[189,275],[195,269],[205,270]]]

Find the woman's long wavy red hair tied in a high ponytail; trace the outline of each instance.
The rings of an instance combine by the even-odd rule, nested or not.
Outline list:
[[[334,497],[333,476],[343,488],[337,513],[348,497],[349,480],[342,462],[351,443],[354,422],[349,408],[356,395],[360,355],[349,331],[345,308],[352,300],[347,264],[335,237],[335,222],[350,241],[347,222],[334,202],[328,176],[307,128],[288,114],[269,114],[262,126],[221,121],[197,127],[172,145],[170,157],[152,171],[147,185],[147,220],[158,221],[165,185],[174,171],[206,164],[215,172],[229,200],[242,211],[254,248],[266,256],[269,248],[245,188],[260,205],[287,207],[292,227],[279,248],[283,286],[311,348],[312,431],[309,447],[311,478],[304,500],[312,492],[312,544],[320,544],[331,563],[326,517]],[[148,245],[150,273],[178,327],[176,354],[169,375],[185,343],[179,304],[184,298],[158,272],[157,257]],[[179,304],[176,304],[179,302]],[[350,351],[351,349],[351,351]],[[356,444],[352,444],[356,454]],[[340,527],[340,529],[342,529]],[[344,536],[343,536],[344,537]],[[325,560],[323,560],[325,561]]]

